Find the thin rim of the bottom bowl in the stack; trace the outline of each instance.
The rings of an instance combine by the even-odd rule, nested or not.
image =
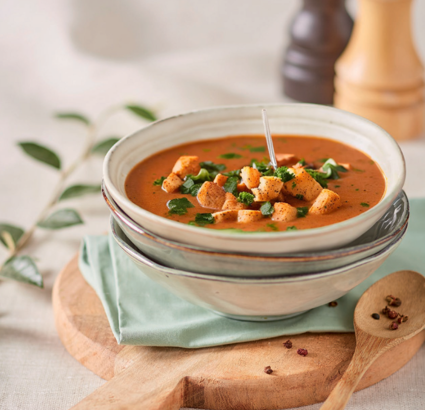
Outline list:
[[[113,220],[113,217],[111,216],[111,220]],[[119,227],[118,223],[116,221],[111,221],[111,231],[112,236],[114,240],[117,242],[118,246],[123,250],[123,252],[126,253],[128,257],[131,259],[136,260],[139,263],[142,263],[143,265],[148,266],[151,269],[154,269],[157,272],[173,275],[173,276],[185,276],[190,277],[194,279],[201,279],[201,280],[212,280],[212,281],[219,281],[219,282],[232,282],[232,283],[242,283],[242,284],[277,284],[277,283],[293,283],[293,282],[303,282],[308,281],[312,279],[318,279],[323,277],[329,277],[334,276],[340,273],[345,273],[347,271],[350,271],[351,269],[358,268],[360,266],[366,265],[370,262],[372,262],[374,259],[378,259],[381,257],[385,257],[388,254],[390,254],[394,247],[397,247],[401,240],[406,235],[407,229],[405,229],[402,234],[394,239],[394,241],[390,242],[385,248],[381,249],[378,253],[375,253],[367,258],[360,259],[359,261],[352,262],[348,265],[344,265],[339,268],[334,268],[331,270],[321,271],[321,272],[315,272],[315,273],[305,273],[305,274],[296,274],[296,275],[282,275],[282,276],[260,276],[260,277],[243,277],[243,276],[226,276],[226,275],[213,275],[209,273],[195,273],[195,272],[189,272],[189,271],[182,271],[180,269],[174,269],[174,268],[168,268],[163,265],[160,265],[151,259],[149,259],[147,256],[142,254],[141,252],[134,249],[134,247],[127,242],[125,242],[120,236],[118,236],[118,233],[115,228],[115,224],[117,224],[118,228],[122,231],[122,229]],[[123,235],[125,233],[123,232]]]

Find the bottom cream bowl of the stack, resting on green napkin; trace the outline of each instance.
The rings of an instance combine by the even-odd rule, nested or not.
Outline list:
[[[150,279],[188,302],[240,320],[290,318],[343,296],[374,273],[404,232],[378,253],[326,272],[279,277],[234,277],[167,268],[144,256],[111,217],[114,239]]]

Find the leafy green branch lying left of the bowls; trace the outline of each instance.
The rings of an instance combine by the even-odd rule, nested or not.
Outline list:
[[[34,141],[18,142],[18,146],[28,156],[42,162],[59,172],[59,178],[52,193],[33,225],[24,230],[21,227],[8,223],[0,223],[0,243],[8,249],[8,257],[0,266],[0,277],[14,279],[43,287],[43,276],[39,272],[33,258],[28,255],[20,255],[33,236],[37,228],[62,229],[83,224],[83,219],[75,209],[61,208],[53,210],[59,203],[67,199],[80,197],[86,194],[96,193],[100,190],[100,184],[75,184],[66,186],[69,176],[92,155],[104,156],[106,152],[119,140],[118,137],[107,137],[96,141],[98,130],[107,119],[115,112],[126,109],[131,113],[147,121],[155,121],[155,114],[140,105],[124,105],[112,107],[99,115],[97,121],[92,122],[88,117],[75,112],[57,113],[56,118],[72,120],[81,123],[87,130],[87,136],[78,157],[65,169],[59,155],[50,148]]]

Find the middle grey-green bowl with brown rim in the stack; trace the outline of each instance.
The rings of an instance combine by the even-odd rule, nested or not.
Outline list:
[[[146,257],[163,266],[195,273],[259,277],[323,272],[349,265],[380,252],[404,235],[409,220],[409,202],[401,191],[387,212],[352,243],[334,250],[294,254],[243,254],[218,252],[161,238],[138,225],[115,203],[102,185],[103,198],[111,212],[111,229],[118,224],[125,236]]]

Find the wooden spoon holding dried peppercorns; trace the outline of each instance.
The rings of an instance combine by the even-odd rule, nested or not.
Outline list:
[[[385,297],[393,295],[402,301],[399,307],[391,310],[408,316],[399,324],[397,319],[389,319],[382,314],[388,302]],[[357,384],[369,366],[389,348],[410,339],[425,326],[425,277],[413,271],[391,273],[374,283],[363,293],[354,311],[356,350],[342,378],[334,387],[321,410],[344,409]],[[372,318],[378,313],[380,319]],[[389,325],[395,321],[398,329]]]

